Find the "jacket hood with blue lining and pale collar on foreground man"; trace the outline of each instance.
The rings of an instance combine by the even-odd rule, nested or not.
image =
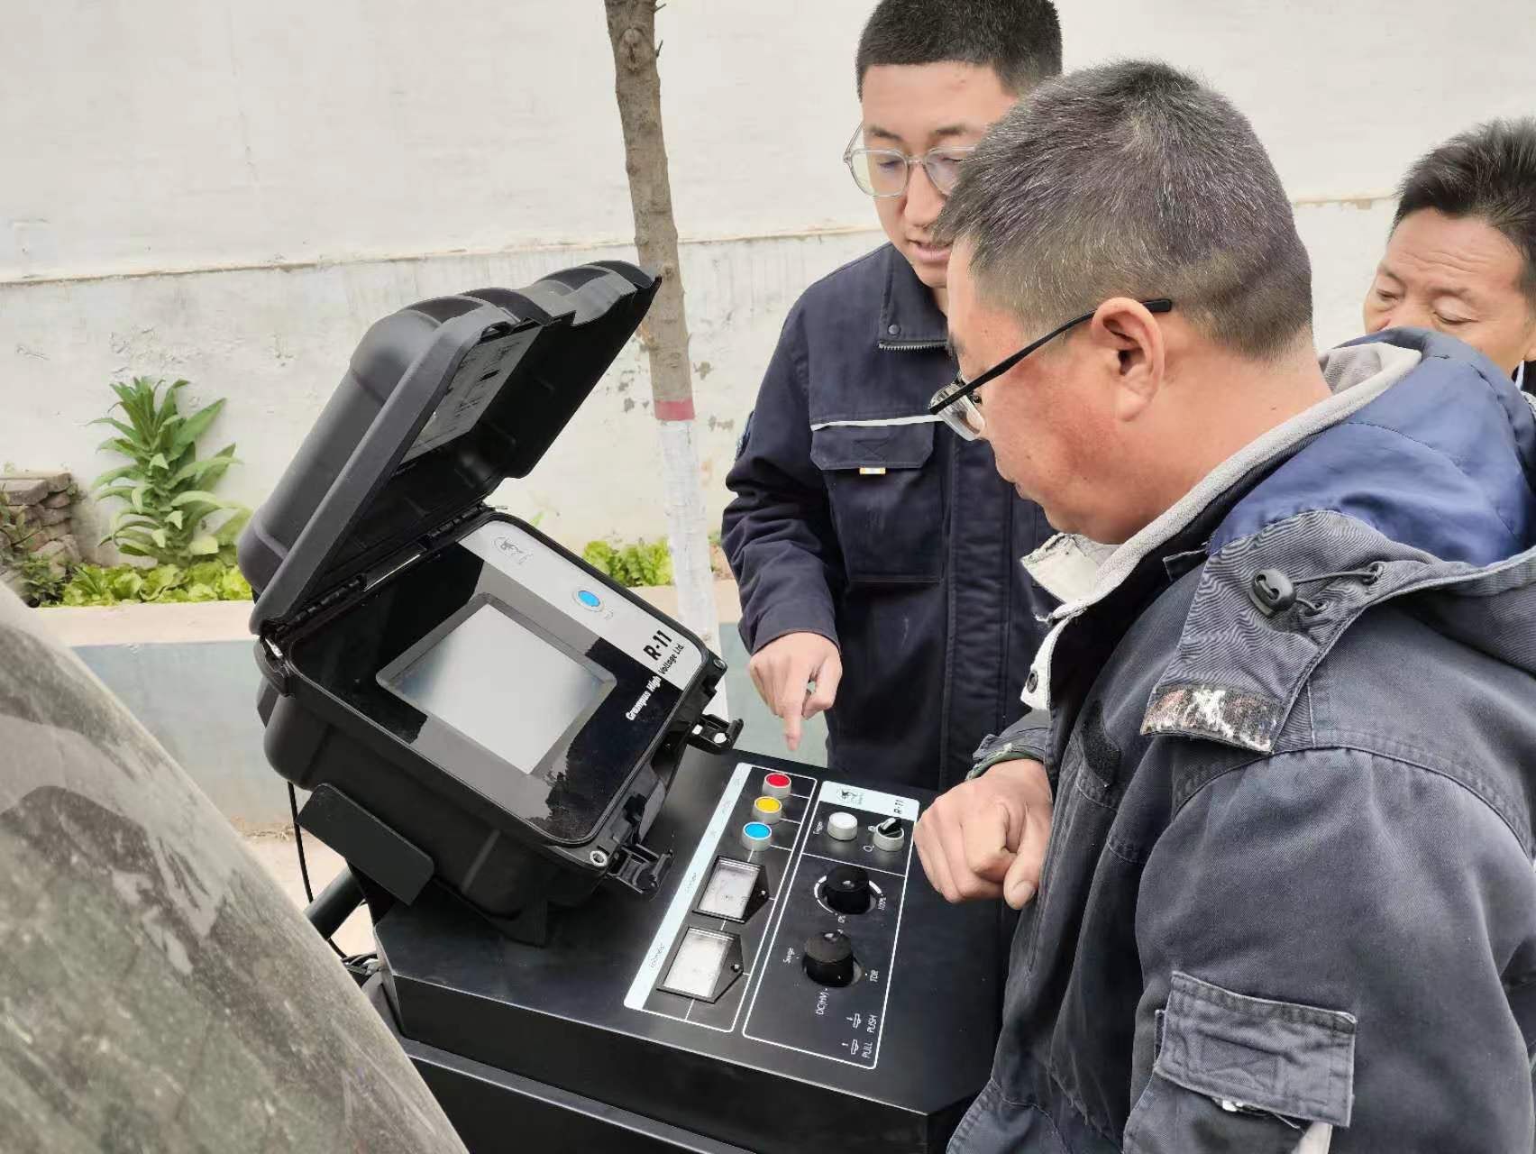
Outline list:
[[[1525,398],[1468,346],[1418,329],[1353,341],[1321,367],[1332,398],[1235,453],[1107,559],[1069,538],[1026,559],[1063,599],[1026,704],[1049,708],[1068,627],[1212,515],[1146,733],[1272,750],[1342,632],[1370,605],[1415,593],[1432,599],[1424,615],[1441,632],[1536,673],[1536,416]]]

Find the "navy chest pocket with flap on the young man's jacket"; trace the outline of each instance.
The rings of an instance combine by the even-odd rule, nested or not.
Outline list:
[[[934,582],[945,572],[932,423],[811,430],[851,582]]]

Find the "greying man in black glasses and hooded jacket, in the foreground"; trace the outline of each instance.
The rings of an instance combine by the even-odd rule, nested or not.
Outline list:
[[[1164,65],[1040,86],[937,235],[934,410],[1115,545],[1031,562],[1054,821],[1005,880],[1032,900],[951,1149],[1530,1151],[1536,415],[1507,366],[1428,329],[1319,361],[1269,157]],[[946,894],[1049,804],[1025,765],[925,811]]]

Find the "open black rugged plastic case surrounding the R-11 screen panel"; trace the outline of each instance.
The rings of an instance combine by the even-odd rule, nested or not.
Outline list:
[[[396,899],[415,897],[430,862],[484,914],[521,919],[518,936],[538,937],[548,905],[576,904],[604,879],[644,893],[667,865],[641,837],[682,747],[699,730],[720,731],[703,711],[723,662],[531,526],[484,506],[502,478],[525,476],[554,443],[639,326],[656,284],[631,264],[604,261],[521,292],[484,289],[386,317],[241,536],[240,565],[258,592],[252,632],[267,759],[316,791],[306,828],[313,810],[323,839],[349,842],[333,848]],[[292,659],[306,638],[346,630],[364,598],[493,521],[538,538],[702,656],[622,787],[599,799],[591,836],[578,842],[544,836],[488,802]]]

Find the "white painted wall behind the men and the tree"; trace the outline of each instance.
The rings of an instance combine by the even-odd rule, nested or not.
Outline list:
[[[227,396],[257,502],[376,317],[622,255],[599,0],[3,0],[0,461],[81,476],[129,373]],[[799,290],[877,243],[839,163],[868,0],[670,0],[659,23],[711,513]],[[9,9],[20,9],[11,14]],[[1536,3],[1064,0],[1068,65],[1158,55],[1253,120],[1313,255],[1318,338],[1355,335],[1405,164],[1536,109]],[[662,533],[630,349],[505,502]],[[622,478],[622,479],[621,479]]]

